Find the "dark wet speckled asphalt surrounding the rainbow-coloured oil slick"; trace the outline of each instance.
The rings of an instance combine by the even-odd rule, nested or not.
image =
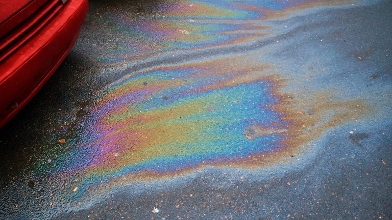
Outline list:
[[[266,59],[271,61],[276,56],[281,60],[280,63],[284,63],[289,62],[294,55],[304,57],[304,60],[309,56],[311,68],[306,69],[327,70],[322,73],[323,79],[303,82],[294,78],[300,77],[302,70],[293,68],[298,71],[295,73],[298,75],[287,77],[294,79],[283,90],[299,94],[302,91],[300,87],[311,84],[308,85],[311,91],[309,93],[314,93],[322,90],[323,86],[333,85],[332,90],[339,88],[340,91],[335,95],[336,99],[362,97],[379,109],[378,112],[370,113],[373,118],[321,131],[323,135],[314,140],[319,147],[311,149],[309,154],[304,153],[305,162],[300,168],[290,170],[290,166],[282,166],[276,168],[275,172],[275,168],[269,168],[268,164],[261,168],[251,168],[251,171],[225,170],[226,168],[215,170],[212,166],[185,174],[186,177],[181,174],[173,175],[169,177],[170,183],[167,184],[154,179],[137,185],[132,185],[130,181],[130,187],[111,187],[109,183],[110,187],[103,186],[110,188],[104,190],[105,193],[96,193],[96,196],[92,193],[91,202],[88,201],[89,197],[67,200],[66,197],[71,197],[72,194],[68,190],[69,193],[61,193],[62,199],[65,199],[58,200],[65,205],[51,208],[54,206],[49,204],[47,198],[68,186],[59,183],[58,188],[51,190],[49,186],[57,183],[48,176],[55,173],[57,167],[67,163],[60,161],[58,155],[66,154],[72,149],[72,145],[65,147],[58,140],[76,140],[88,130],[83,121],[92,115],[91,109],[99,105],[95,100],[110,88],[108,85],[145,66],[189,60],[187,56],[162,60],[131,59],[127,68],[119,68],[118,63],[121,62],[118,58],[108,56],[107,53],[116,42],[130,41],[134,36],[121,36],[121,28],[105,29],[116,26],[113,20],[106,17],[120,17],[118,20],[124,20],[129,14],[157,13],[158,16],[160,12],[157,12],[157,8],[163,3],[97,0],[89,3],[89,15],[80,38],[63,64],[33,100],[0,129],[2,219],[392,218],[392,4],[388,1],[353,8],[315,10],[300,17],[294,16],[280,22],[305,24],[291,32],[278,34],[272,40],[239,48],[247,51],[252,50],[252,47],[264,48],[276,39],[295,39],[276,53],[266,52],[267,56],[271,55],[271,58]],[[321,19],[320,22],[310,22],[317,19]],[[319,31],[328,41],[328,46],[321,48],[314,43],[316,40],[301,40],[306,39],[308,33],[315,36]],[[108,39],[113,44],[107,43]],[[215,54],[229,54],[230,57],[237,52],[232,48],[215,49],[197,51],[193,58],[212,59]],[[312,49],[314,53],[309,52]],[[127,57],[127,54],[129,53],[124,52],[121,56]],[[385,57],[385,54],[389,57]],[[363,62],[367,63],[363,67],[359,66],[354,61],[347,61],[348,56],[356,59],[355,62],[362,62],[361,65]],[[328,59],[333,60],[323,63]],[[105,62],[116,65],[110,66]],[[279,62],[276,66],[279,66]],[[308,65],[303,60],[297,63],[282,67],[282,74],[290,72],[290,66]],[[347,69],[343,69],[343,66]],[[372,69],[377,71],[371,71]],[[347,81],[343,79],[346,76]],[[347,94],[341,92],[345,90]],[[331,111],[335,111],[334,108]],[[262,173],[263,169],[268,172]],[[75,178],[78,176],[75,175]],[[65,182],[74,181],[71,177],[69,179],[69,182]],[[78,202],[83,206],[78,206]],[[159,212],[154,212],[155,208]],[[50,212],[54,214],[48,214]]]

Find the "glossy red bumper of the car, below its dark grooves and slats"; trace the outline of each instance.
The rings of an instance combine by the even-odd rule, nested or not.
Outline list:
[[[26,105],[79,36],[87,0],[69,0],[33,38],[0,63],[0,128]]]

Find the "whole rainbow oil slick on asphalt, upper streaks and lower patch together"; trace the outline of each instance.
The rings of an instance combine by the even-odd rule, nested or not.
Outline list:
[[[311,98],[283,92],[291,79],[263,48],[289,31],[268,21],[351,1],[231,2],[164,1],[103,18],[113,39],[94,65],[118,80],[94,99],[78,141],[61,142],[67,150],[47,174],[59,195],[48,199],[54,215],[125,186],[186,184],[199,171],[290,170],[328,129],[371,111],[321,89]]]

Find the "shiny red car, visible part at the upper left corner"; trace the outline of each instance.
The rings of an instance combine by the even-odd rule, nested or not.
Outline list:
[[[59,67],[87,11],[87,0],[0,0],[0,128]]]

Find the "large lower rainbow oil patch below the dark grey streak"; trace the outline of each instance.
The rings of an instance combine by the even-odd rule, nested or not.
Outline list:
[[[80,202],[206,167],[288,169],[292,155],[306,154],[327,129],[370,111],[360,99],[336,102],[327,92],[308,100],[282,93],[287,79],[271,66],[250,66],[255,54],[156,67],[121,81],[96,100],[88,141],[53,176],[77,175]]]

